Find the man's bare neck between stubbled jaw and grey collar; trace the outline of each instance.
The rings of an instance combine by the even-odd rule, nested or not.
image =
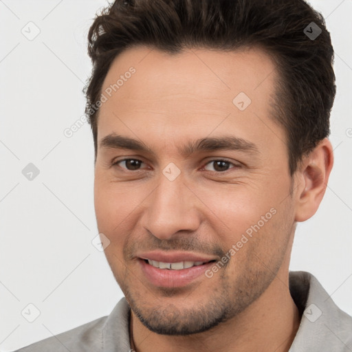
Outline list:
[[[300,324],[289,293],[288,272],[280,271],[265,292],[241,314],[210,331],[188,336],[153,333],[131,311],[131,348],[135,352],[195,351],[287,352]],[[131,334],[132,333],[132,334]]]

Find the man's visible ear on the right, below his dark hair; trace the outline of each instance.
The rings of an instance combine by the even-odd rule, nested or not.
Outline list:
[[[316,213],[325,195],[332,167],[333,147],[325,138],[309,155],[303,157],[297,171],[296,221],[306,221]]]

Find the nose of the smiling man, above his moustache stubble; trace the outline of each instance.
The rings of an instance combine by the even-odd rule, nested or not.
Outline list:
[[[201,203],[190,186],[181,177],[170,181],[161,175],[142,217],[142,226],[161,240],[172,239],[179,232],[195,232],[200,216],[197,203]]]

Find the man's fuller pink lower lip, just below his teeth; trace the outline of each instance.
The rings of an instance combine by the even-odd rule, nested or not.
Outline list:
[[[206,263],[188,269],[170,270],[159,269],[146,263],[143,259],[138,260],[142,266],[142,272],[150,283],[159,287],[182,287],[195,281],[201,275],[205,276],[206,270],[214,263]]]

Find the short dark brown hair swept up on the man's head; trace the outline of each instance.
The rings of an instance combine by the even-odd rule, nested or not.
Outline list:
[[[321,33],[312,39],[307,35]],[[320,28],[320,30],[319,30]],[[135,45],[169,54],[186,47],[236,50],[261,47],[277,67],[273,118],[286,131],[289,171],[330,133],[336,96],[333,47],[322,14],[303,0],[116,0],[91,25],[93,63],[84,89],[97,153],[102,83],[113,59]]]

